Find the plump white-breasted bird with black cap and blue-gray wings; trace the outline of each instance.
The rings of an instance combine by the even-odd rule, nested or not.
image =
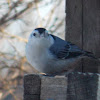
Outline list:
[[[37,71],[53,76],[72,72],[81,58],[95,59],[93,53],[50,34],[45,28],[32,31],[25,52],[28,62]]]

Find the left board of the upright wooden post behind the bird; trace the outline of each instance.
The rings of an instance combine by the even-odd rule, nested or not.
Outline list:
[[[82,48],[82,0],[66,0],[65,39]],[[82,71],[81,61],[75,66]]]

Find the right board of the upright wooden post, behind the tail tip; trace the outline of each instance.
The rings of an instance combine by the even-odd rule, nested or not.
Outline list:
[[[100,0],[83,0],[83,49],[100,57]],[[84,72],[98,72],[100,62],[84,59]]]

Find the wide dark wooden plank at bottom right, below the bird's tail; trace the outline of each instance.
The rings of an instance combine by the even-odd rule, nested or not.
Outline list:
[[[100,98],[97,99],[100,95],[98,94],[100,93],[98,92],[100,82],[98,78],[99,75],[91,73],[69,74],[67,100],[100,100]]]

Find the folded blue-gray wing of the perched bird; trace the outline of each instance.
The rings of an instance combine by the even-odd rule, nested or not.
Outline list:
[[[51,35],[55,42],[50,47],[50,52],[59,59],[75,58],[84,54],[84,51],[76,45]]]

